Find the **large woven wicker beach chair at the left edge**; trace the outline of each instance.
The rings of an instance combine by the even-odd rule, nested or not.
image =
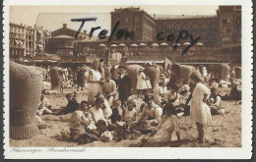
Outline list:
[[[34,67],[10,62],[10,138],[39,134],[35,114],[40,103],[42,74]]]

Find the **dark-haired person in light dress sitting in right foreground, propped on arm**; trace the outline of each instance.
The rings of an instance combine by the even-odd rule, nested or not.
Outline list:
[[[175,107],[171,103],[166,103],[163,107],[165,115],[161,117],[160,124],[151,135],[148,140],[149,143],[167,143],[171,141],[173,133],[177,135],[178,141],[180,141],[180,134],[178,128],[178,119],[175,116]]]

